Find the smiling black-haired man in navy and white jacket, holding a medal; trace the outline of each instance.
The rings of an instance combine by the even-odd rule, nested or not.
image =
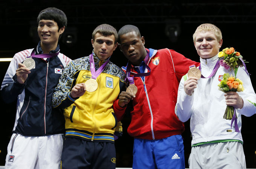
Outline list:
[[[5,168],[59,168],[64,116],[52,108],[52,94],[70,58],[59,53],[67,25],[62,10],[50,7],[37,18],[40,42],[14,55],[1,86],[6,103],[17,99],[16,119]]]

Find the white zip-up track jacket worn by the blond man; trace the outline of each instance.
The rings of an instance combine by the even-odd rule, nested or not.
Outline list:
[[[208,77],[212,73],[217,60],[218,55],[209,59],[200,58],[201,72],[204,77]],[[238,140],[242,142],[242,135],[240,133],[242,124],[241,114],[251,116],[256,113],[256,94],[250,77],[245,72],[244,67],[239,67],[236,78],[241,79],[244,83],[244,91],[238,92],[239,96],[244,100],[244,106],[242,109],[236,109],[240,132],[235,132],[234,123],[232,125],[232,132],[227,132],[227,129],[230,129],[231,120],[223,118],[227,107],[224,97],[225,93],[218,90],[218,84],[222,80],[224,73],[235,76],[234,70],[226,70],[220,66],[211,78],[200,78],[198,80],[197,88],[195,88],[192,96],[187,95],[183,88],[187,75],[183,76],[180,81],[175,114],[183,122],[190,118],[192,145],[213,141]]]

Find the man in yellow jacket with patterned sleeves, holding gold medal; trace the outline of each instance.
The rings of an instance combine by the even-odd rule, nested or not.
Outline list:
[[[95,28],[93,52],[68,64],[52,96],[53,107],[65,108],[63,169],[114,169],[113,103],[125,87],[125,74],[109,61],[117,47],[117,31],[108,24]]]

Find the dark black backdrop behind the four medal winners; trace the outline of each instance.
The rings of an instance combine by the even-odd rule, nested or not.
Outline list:
[[[38,43],[36,19],[46,7],[63,10],[68,25],[60,40],[61,52],[72,59],[87,56],[92,51],[91,33],[99,24],[107,23],[119,30],[125,24],[139,27],[145,37],[146,48],[169,48],[195,61],[199,57],[195,50],[192,34],[202,23],[212,23],[222,31],[223,45],[234,47],[244,57],[251,81],[256,81],[255,26],[256,3],[253,0],[227,1],[215,0],[214,3],[188,0],[8,0],[0,1],[0,58],[13,57],[24,49],[34,48]],[[176,32],[176,33],[175,33]],[[177,36],[175,36],[175,34]],[[169,35],[169,36],[167,36]],[[67,41],[72,43],[67,43]],[[117,49],[111,61],[125,66],[126,58]],[[9,62],[0,62],[0,81],[6,73]],[[0,114],[1,144],[0,166],[5,164],[6,149],[15,121],[16,103],[5,104],[1,100]],[[247,168],[256,168],[255,129],[256,116],[242,116],[242,136]],[[122,120],[123,136],[116,141],[117,167],[132,166],[133,138],[126,129],[130,116]],[[189,121],[183,133],[185,163],[191,150]]]

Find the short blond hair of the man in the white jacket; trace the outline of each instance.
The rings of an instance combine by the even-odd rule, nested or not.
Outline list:
[[[197,27],[197,29],[195,30],[195,33],[193,34],[194,42],[195,42],[195,36],[198,32],[207,32],[207,31],[213,31],[215,33],[215,36],[217,37],[218,42],[219,40],[222,39],[221,30],[218,27],[216,27],[213,24],[201,24],[200,26]]]

